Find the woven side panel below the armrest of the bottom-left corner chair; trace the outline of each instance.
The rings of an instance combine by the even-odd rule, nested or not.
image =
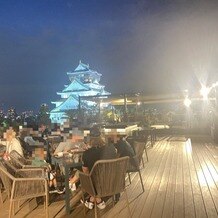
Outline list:
[[[12,187],[14,199],[27,199],[44,196],[48,192],[48,183],[43,178],[16,178]]]

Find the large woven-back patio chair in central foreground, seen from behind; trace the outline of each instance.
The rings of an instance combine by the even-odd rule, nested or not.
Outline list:
[[[89,174],[80,172],[79,177],[83,192],[87,192],[90,196],[95,198],[106,196],[114,197],[114,195],[124,191],[129,215],[131,217],[128,196],[125,189],[125,174],[128,161],[129,157],[99,160],[94,164]],[[95,217],[97,217],[96,201]]]

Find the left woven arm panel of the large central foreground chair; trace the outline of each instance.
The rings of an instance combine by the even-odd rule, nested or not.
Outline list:
[[[79,179],[80,179],[82,189],[86,191],[88,194],[90,194],[91,196],[95,196],[96,191],[93,186],[90,174],[79,172]]]

